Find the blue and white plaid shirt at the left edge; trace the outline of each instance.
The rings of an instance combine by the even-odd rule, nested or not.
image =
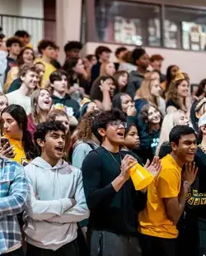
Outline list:
[[[0,156],[0,254],[21,242],[16,214],[24,210],[27,182],[23,167]]]

